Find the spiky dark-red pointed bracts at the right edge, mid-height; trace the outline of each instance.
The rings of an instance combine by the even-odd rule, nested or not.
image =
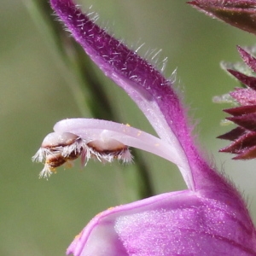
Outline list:
[[[247,66],[256,72],[256,59],[253,55],[241,47],[238,47],[238,50]],[[243,69],[245,72],[245,68]],[[244,87],[230,92],[230,96],[238,106],[224,109],[224,112],[232,115],[226,119],[238,126],[218,137],[232,142],[228,147],[222,148],[220,152],[236,154],[236,157],[233,158],[235,160],[253,159],[256,158],[256,78],[253,75],[241,73],[236,70],[236,67],[228,69],[228,72],[244,84]]]

